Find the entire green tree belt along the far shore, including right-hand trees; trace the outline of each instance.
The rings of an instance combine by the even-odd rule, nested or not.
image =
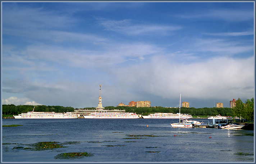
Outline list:
[[[63,107],[63,106],[45,106],[45,105],[2,105],[2,114],[3,115],[18,115],[21,113],[26,113],[28,111],[32,111],[35,107],[35,112],[56,112],[56,113],[64,113],[64,112],[74,112],[74,110],[78,110],[78,108],[74,109],[73,107]],[[79,108],[82,109],[82,108]],[[83,108],[88,110],[95,110],[95,107],[91,108]],[[148,115],[155,112],[160,113],[178,113],[179,108],[166,108],[166,107],[129,107],[129,106],[106,106],[105,110],[125,110],[125,112],[133,112],[139,115]],[[244,118],[246,120],[254,120],[254,98],[247,99],[244,103],[240,98],[236,101],[236,106],[233,108],[180,108],[181,113],[190,114],[192,116],[232,116]]]

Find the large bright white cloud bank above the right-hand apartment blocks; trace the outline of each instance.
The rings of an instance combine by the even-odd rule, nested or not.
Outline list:
[[[253,57],[211,58],[185,65],[156,56],[151,63],[117,70],[116,77],[119,83],[133,91],[163,98],[174,98],[183,93],[198,100],[214,97],[230,99],[253,97],[253,68]]]

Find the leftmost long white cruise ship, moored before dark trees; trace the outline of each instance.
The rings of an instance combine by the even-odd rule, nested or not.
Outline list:
[[[34,107],[35,109],[35,107]],[[14,116],[15,119],[77,119],[78,115],[71,112],[55,113],[55,112],[32,112],[22,113]]]

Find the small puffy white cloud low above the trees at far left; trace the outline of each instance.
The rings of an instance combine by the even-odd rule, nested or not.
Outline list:
[[[29,101],[28,98],[18,98],[15,96],[9,97],[7,99],[2,99],[2,104],[13,104],[13,105],[41,105],[35,101]]]

